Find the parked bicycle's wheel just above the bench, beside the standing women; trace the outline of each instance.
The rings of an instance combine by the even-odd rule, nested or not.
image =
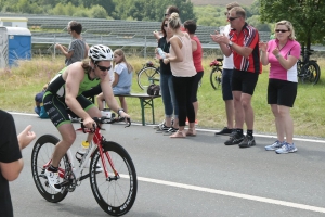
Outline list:
[[[138,74],[138,85],[144,90],[152,84],[159,85],[160,72],[153,66],[142,68]]]

